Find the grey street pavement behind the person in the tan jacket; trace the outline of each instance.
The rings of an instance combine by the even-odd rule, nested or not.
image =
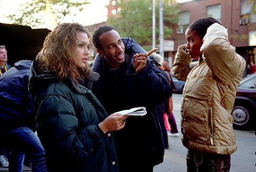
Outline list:
[[[178,131],[181,132],[181,101],[182,94],[173,94],[173,114]],[[238,150],[231,155],[230,172],[256,171],[256,136],[254,131],[235,130]],[[187,149],[182,145],[181,133],[179,137],[168,136],[169,149],[165,149],[164,162],[154,167],[154,172],[181,172],[186,171]]]

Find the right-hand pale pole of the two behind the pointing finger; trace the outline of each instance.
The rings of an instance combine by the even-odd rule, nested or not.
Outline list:
[[[164,20],[163,20],[163,2],[159,0],[159,54],[164,58]]]

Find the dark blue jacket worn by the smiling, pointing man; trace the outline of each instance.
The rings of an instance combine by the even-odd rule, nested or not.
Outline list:
[[[134,55],[144,53],[134,40],[122,38],[125,53]],[[172,95],[169,83],[164,75],[151,64],[150,58],[145,68],[135,73],[132,58],[121,64],[116,71],[118,79],[112,77],[105,58],[99,54],[92,68],[100,74],[98,81],[93,83],[92,92],[100,100],[109,114],[144,106],[147,114],[143,117],[129,117],[124,129],[115,131],[115,145],[119,167],[127,164],[157,165],[163,162],[164,144],[162,130],[156,115],[156,105]],[[129,63],[129,65],[127,64]]]

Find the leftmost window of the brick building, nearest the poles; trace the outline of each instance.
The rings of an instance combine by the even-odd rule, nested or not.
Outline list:
[[[179,13],[177,34],[182,34],[186,31],[189,25],[189,11]]]

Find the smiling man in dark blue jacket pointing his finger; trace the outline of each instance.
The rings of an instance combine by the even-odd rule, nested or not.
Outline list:
[[[156,106],[172,95],[168,81],[151,64],[148,53],[134,40],[121,38],[115,28],[101,26],[92,37],[98,52],[92,68],[100,74],[92,92],[108,113],[141,106],[147,109],[145,116],[129,117],[126,127],[115,131],[119,171],[153,171],[163,162]]]

